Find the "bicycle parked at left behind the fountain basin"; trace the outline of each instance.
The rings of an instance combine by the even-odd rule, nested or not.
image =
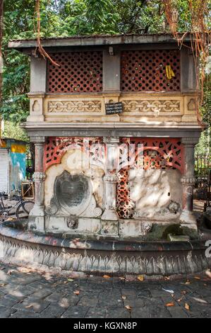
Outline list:
[[[30,210],[32,210],[34,206],[33,201],[24,201],[23,197],[21,196],[20,192],[18,195],[14,195],[13,198],[17,201],[15,205],[6,207],[4,205],[3,198],[5,198],[5,192],[0,192],[0,218],[2,222],[8,218],[8,215],[11,213],[11,210],[16,208],[16,218],[28,218]]]

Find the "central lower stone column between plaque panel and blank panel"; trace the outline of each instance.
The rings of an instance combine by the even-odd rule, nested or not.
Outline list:
[[[105,186],[105,209],[102,220],[119,220],[116,213],[116,183],[118,176],[116,169],[119,164],[119,137],[104,137],[106,144],[106,174],[104,176]]]

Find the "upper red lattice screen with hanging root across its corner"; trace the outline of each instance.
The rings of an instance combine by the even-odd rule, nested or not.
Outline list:
[[[102,91],[102,52],[59,52],[51,54],[60,66],[49,62],[48,91],[73,93]]]

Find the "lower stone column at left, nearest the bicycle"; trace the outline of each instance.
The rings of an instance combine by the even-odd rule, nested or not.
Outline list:
[[[35,142],[35,205],[29,216],[29,229],[44,232],[44,179],[43,156],[44,137],[37,137]]]

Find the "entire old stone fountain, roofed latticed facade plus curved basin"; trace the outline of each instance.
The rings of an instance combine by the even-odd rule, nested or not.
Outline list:
[[[181,49],[162,34],[42,45],[58,66],[35,40],[9,43],[31,61],[23,126],[35,143],[35,206],[24,232],[1,227],[0,254],[98,273],[206,269],[193,215],[202,128],[189,36]],[[183,242],[167,241],[175,233]]]

